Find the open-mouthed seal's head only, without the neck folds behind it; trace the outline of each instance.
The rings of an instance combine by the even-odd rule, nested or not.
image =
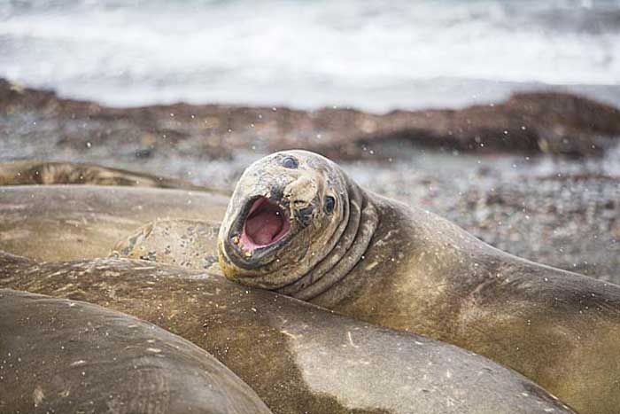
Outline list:
[[[271,154],[236,184],[218,240],[221,268],[246,285],[289,285],[333,246],[348,212],[347,180],[335,163],[313,152]]]

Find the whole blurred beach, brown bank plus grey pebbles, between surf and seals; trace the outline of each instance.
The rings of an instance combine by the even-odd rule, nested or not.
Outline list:
[[[523,128],[524,127],[524,128]],[[560,93],[463,110],[109,108],[0,81],[0,160],[70,160],[232,189],[306,148],[512,254],[620,283],[620,111]]]

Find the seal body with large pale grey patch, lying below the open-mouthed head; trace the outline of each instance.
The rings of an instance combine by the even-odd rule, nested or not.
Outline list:
[[[275,413],[573,412],[480,355],[201,271],[0,254],[0,287],[89,301],[158,324],[217,357]]]

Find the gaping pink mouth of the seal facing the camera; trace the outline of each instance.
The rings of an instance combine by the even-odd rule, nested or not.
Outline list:
[[[247,251],[271,246],[284,238],[291,224],[283,209],[265,197],[254,201],[241,232],[241,244]]]

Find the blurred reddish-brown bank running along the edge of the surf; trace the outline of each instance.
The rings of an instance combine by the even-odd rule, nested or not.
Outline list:
[[[373,114],[186,104],[110,108],[0,80],[0,114],[4,134],[52,141],[59,150],[113,145],[117,155],[143,158],[166,152],[213,159],[235,150],[306,148],[356,160],[398,157],[411,145],[586,157],[601,155],[620,137],[620,110],[558,92],[519,93],[462,110]]]

